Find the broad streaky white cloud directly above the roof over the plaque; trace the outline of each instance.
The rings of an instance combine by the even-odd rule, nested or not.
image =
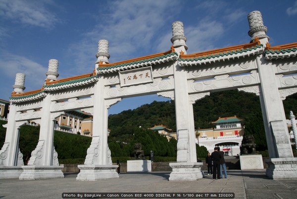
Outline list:
[[[89,59],[89,63],[95,66],[97,45],[101,39],[109,41],[111,63],[152,54],[151,50],[158,45],[156,40],[160,29],[165,24],[171,28],[172,17],[178,13],[178,4],[179,1],[171,0],[108,1],[106,7],[109,9],[104,11],[101,8],[98,24],[92,31],[86,32],[80,42],[70,45],[69,54],[76,58],[85,55],[77,62],[82,64],[82,59]],[[172,15],[165,15],[168,13],[166,10],[172,10]]]

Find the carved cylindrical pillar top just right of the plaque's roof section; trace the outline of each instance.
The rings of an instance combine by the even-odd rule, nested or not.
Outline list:
[[[172,23],[172,38],[171,42],[174,48],[184,46],[188,50],[186,45],[187,37],[184,34],[184,24],[181,21],[175,21]],[[177,52],[180,53],[180,52]]]

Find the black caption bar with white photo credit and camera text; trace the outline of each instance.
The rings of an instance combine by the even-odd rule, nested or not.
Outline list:
[[[234,199],[234,193],[62,193],[63,199]]]

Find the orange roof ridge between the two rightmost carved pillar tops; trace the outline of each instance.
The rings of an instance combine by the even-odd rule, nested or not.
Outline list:
[[[255,47],[260,44],[261,44],[260,41],[258,39],[255,39],[254,42],[248,43],[248,44],[241,44],[241,45],[237,45],[237,46],[220,48],[220,49],[204,51],[204,52],[194,53],[194,54],[189,54],[189,55],[180,54],[180,58],[198,58],[198,57],[203,57],[203,56],[211,56],[211,55],[215,55],[218,53],[225,53],[225,52],[227,53],[230,51],[247,49],[247,48]]]

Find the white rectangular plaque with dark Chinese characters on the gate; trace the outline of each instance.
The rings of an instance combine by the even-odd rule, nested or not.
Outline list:
[[[153,82],[151,66],[120,71],[119,76],[121,87]]]

